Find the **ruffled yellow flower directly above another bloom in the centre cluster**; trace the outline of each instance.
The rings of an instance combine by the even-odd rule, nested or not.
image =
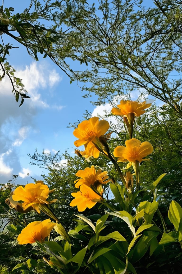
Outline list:
[[[84,170],[80,169],[75,175],[81,179],[74,181],[75,187],[79,187],[82,184],[88,185],[89,187],[90,185],[97,187],[100,184],[107,184],[110,182],[110,180],[106,180],[109,178],[107,174],[107,171],[102,172],[100,169],[96,172],[94,165],[92,165],[91,168],[86,167]]]

